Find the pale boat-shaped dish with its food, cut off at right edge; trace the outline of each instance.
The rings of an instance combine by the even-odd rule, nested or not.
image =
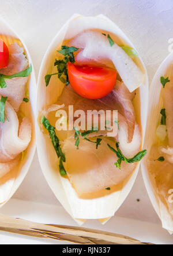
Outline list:
[[[148,195],[163,228],[173,232],[172,95],[173,54],[157,70],[149,92],[142,174]]]

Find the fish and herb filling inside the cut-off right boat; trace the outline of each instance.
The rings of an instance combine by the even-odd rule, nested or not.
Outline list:
[[[173,232],[173,62],[166,73],[160,76],[160,87],[160,99],[157,103],[160,109],[156,114],[159,118],[155,137],[151,141],[147,168],[160,202],[161,220],[163,224],[169,220],[167,229]],[[163,214],[163,208],[167,214]]]

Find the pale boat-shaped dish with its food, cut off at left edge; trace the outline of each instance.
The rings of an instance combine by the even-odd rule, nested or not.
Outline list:
[[[0,19],[0,207],[20,186],[35,153],[35,96],[28,50]]]

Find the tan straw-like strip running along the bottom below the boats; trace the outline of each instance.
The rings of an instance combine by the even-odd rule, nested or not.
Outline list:
[[[0,230],[40,238],[66,240],[78,244],[151,244],[116,233],[76,226],[39,224],[0,214]]]

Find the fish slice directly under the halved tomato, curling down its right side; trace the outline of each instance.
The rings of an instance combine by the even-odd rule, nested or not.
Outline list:
[[[64,103],[65,106],[73,105],[74,111],[81,109],[85,114],[88,109],[118,110],[119,130],[117,129],[118,135],[115,136],[116,141],[120,142],[119,147],[123,154],[127,158],[132,158],[139,152],[141,146],[141,129],[136,123],[133,98],[134,93],[130,93],[123,82],[117,81],[114,90],[98,100],[82,98],[71,87],[65,87],[59,97],[59,103]],[[107,130],[99,130],[97,136],[107,136],[107,132]],[[93,136],[96,136],[96,133],[88,135],[88,137]]]

